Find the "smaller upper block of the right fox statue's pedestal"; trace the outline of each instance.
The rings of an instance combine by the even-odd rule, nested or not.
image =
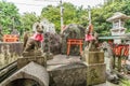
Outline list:
[[[89,64],[104,63],[104,52],[89,52],[84,58]]]

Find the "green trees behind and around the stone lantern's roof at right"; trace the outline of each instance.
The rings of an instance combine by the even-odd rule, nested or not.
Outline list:
[[[112,17],[112,15],[116,12],[121,12],[129,15],[129,2],[115,1],[110,4],[105,4],[103,6],[92,9],[92,24],[94,25],[94,30],[96,30],[101,35],[110,35],[109,29],[112,28],[112,24],[107,23],[106,19]],[[130,22],[128,20],[126,23],[126,28],[129,29],[129,25]]]

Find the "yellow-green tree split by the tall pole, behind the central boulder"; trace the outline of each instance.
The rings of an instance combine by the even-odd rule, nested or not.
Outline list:
[[[68,24],[81,24],[87,26],[87,10],[83,10],[82,6],[75,6],[72,3],[64,3],[64,25]],[[56,31],[61,29],[61,13],[60,13],[60,5],[52,6],[48,5],[47,8],[42,9],[41,18],[48,18],[50,22],[55,24]]]

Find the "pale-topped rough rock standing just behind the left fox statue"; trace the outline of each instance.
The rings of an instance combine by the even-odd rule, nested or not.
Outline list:
[[[40,24],[43,25],[43,52],[52,53],[54,55],[61,53],[61,37],[55,31],[54,24],[50,23],[48,19],[43,18]]]

